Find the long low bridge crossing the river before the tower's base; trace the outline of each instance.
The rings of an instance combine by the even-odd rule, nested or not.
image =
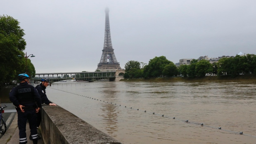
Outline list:
[[[31,78],[34,82],[40,81],[41,78],[49,78],[51,82],[57,82],[61,80],[85,80],[93,82],[96,80],[109,80],[119,81],[123,79],[123,69],[116,71],[96,71],[96,72],[68,72],[68,73],[36,73],[35,77]]]

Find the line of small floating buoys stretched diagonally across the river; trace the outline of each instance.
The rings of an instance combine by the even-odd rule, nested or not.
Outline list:
[[[54,89],[54,90],[58,90],[58,89],[55,89],[55,88],[52,88],[52,87],[49,87],[49,88]],[[64,90],[59,90],[59,91],[66,92],[66,91],[64,91]],[[67,93],[75,94],[75,93],[72,93],[72,92],[67,92]],[[83,95],[80,95],[80,94],[75,94],[75,95],[78,95],[78,96],[81,96],[81,97],[87,97],[87,96],[83,96]],[[87,98],[96,100],[96,99],[93,98],[93,97],[87,97]],[[97,99],[97,101],[98,101],[98,100],[99,100],[99,99]],[[100,100],[100,102],[101,102],[101,101],[102,101],[102,100]],[[105,101],[103,101],[103,102],[105,102]],[[111,103],[107,102],[107,103],[108,103],[108,104],[114,104],[113,102],[111,102]],[[116,105],[116,104],[114,104],[114,105]],[[121,106],[121,104],[119,104],[119,106]],[[124,106],[124,107],[126,108],[126,106]],[[130,109],[133,109],[132,107],[129,107],[129,108],[130,108]],[[134,109],[134,110],[139,111],[139,109]],[[144,111],[144,113],[152,113],[152,112]],[[152,114],[153,114],[153,115],[159,115],[159,116],[165,117],[165,118],[171,118],[171,119],[175,119],[175,120],[180,120],[180,121],[183,121],[183,122],[185,122],[185,123],[191,123],[191,124],[196,124],[196,125],[211,127],[211,128],[214,128],[214,129],[224,130],[224,131],[232,132],[232,133],[239,134],[239,135],[246,135],[246,136],[250,136],[250,137],[256,137],[256,136],[254,136],[254,135],[244,134],[243,132],[235,132],[235,131],[232,131],[232,130],[225,130],[225,129],[221,128],[221,127],[213,127],[213,126],[210,126],[210,125],[204,125],[204,123],[195,123],[195,122],[191,122],[191,121],[189,121],[189,120],[182,120],[182,119],[175,118],[175,117],[164,116],[163,114],[157,114],[157,113],[154,113],[154,112],[153,112]]]

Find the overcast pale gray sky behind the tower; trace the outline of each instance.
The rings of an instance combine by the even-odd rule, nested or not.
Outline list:
[[[159,56],[256,54],[256,0],[2,0],[0,15],[20,22],[36,73],[95,71],[106,7],[121,68]]]

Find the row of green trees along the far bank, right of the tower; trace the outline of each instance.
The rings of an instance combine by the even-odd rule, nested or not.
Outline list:
[[[125,64],[124,78],[170,78],[184,77],[189,79],[206,79],[206,76],[212,76],[214,79],[225,78],[255,78],[256,73],[256,55],[247,54],[244,56],[235,56],[222,58],[218,62],[211,64],[209,61],[193,59],[190,65],[175,66],[172,61],[166,57],[154,57],[148,64],[139,61],[128,61]],[[249,75],[249,76],[240,76]],[[214,77],[218,76],[218,77]],[[208,79],[210,77],[207,77]]]

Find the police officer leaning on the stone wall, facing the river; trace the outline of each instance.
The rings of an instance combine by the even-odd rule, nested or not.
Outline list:
[[[56,106],[56,104],[52,103],[49,101],[49,99],[47,98],[46,96],[46,92],[45,92],[45,89],[46,87],[48,86],[48,84],[50,83],[50,80],[49,78],[42,78],[41,79],[41,82],[40,85],[37,85],[36,86],[36,90],[38,91],[38,93],[40,94],[41,96],[41,99],[42,99],[42,104],[48,104],[50,106]],[[40,123],[41,123],[41,111],[39,110],[38,113],[36,113],[36,116],[37,116],[37,127],[39,127]]]

